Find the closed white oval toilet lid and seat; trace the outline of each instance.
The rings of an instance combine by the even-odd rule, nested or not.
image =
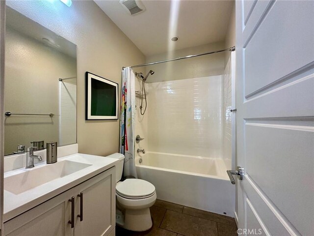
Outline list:
[[[116,192],[126,197],[144,197],[155,193],[155,186],[143,179],[127,178],[117,183]]]

